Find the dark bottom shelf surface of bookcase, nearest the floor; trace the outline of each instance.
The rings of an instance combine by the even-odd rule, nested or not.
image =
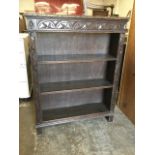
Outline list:
[[[90,103],[67,108],[43,110],[43,121],[103,112],[107,112],[103,103]]]

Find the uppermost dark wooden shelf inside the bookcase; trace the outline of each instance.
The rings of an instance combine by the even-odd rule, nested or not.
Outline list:
[[[38,64],[79,63],[93,61],[115,61],[117,58],[105,54],[38,55]]]

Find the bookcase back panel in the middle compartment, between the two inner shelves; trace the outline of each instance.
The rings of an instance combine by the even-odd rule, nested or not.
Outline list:
[[[104,79],[106,62],[39,65],[39,82]]]

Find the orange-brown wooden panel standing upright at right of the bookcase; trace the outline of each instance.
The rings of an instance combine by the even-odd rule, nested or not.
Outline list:
[[[118,104],[120,109],[135,122],[135,10],[133,9],[128,45],[125,54]]]

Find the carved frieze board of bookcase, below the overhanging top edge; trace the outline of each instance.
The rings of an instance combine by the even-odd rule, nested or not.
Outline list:
[[[96,18],[64,18],[64,17],[39,17],[27,18],[28,30],[35,31],[83,31],[105,32],[125,31],[126,21],[117,19]]]

